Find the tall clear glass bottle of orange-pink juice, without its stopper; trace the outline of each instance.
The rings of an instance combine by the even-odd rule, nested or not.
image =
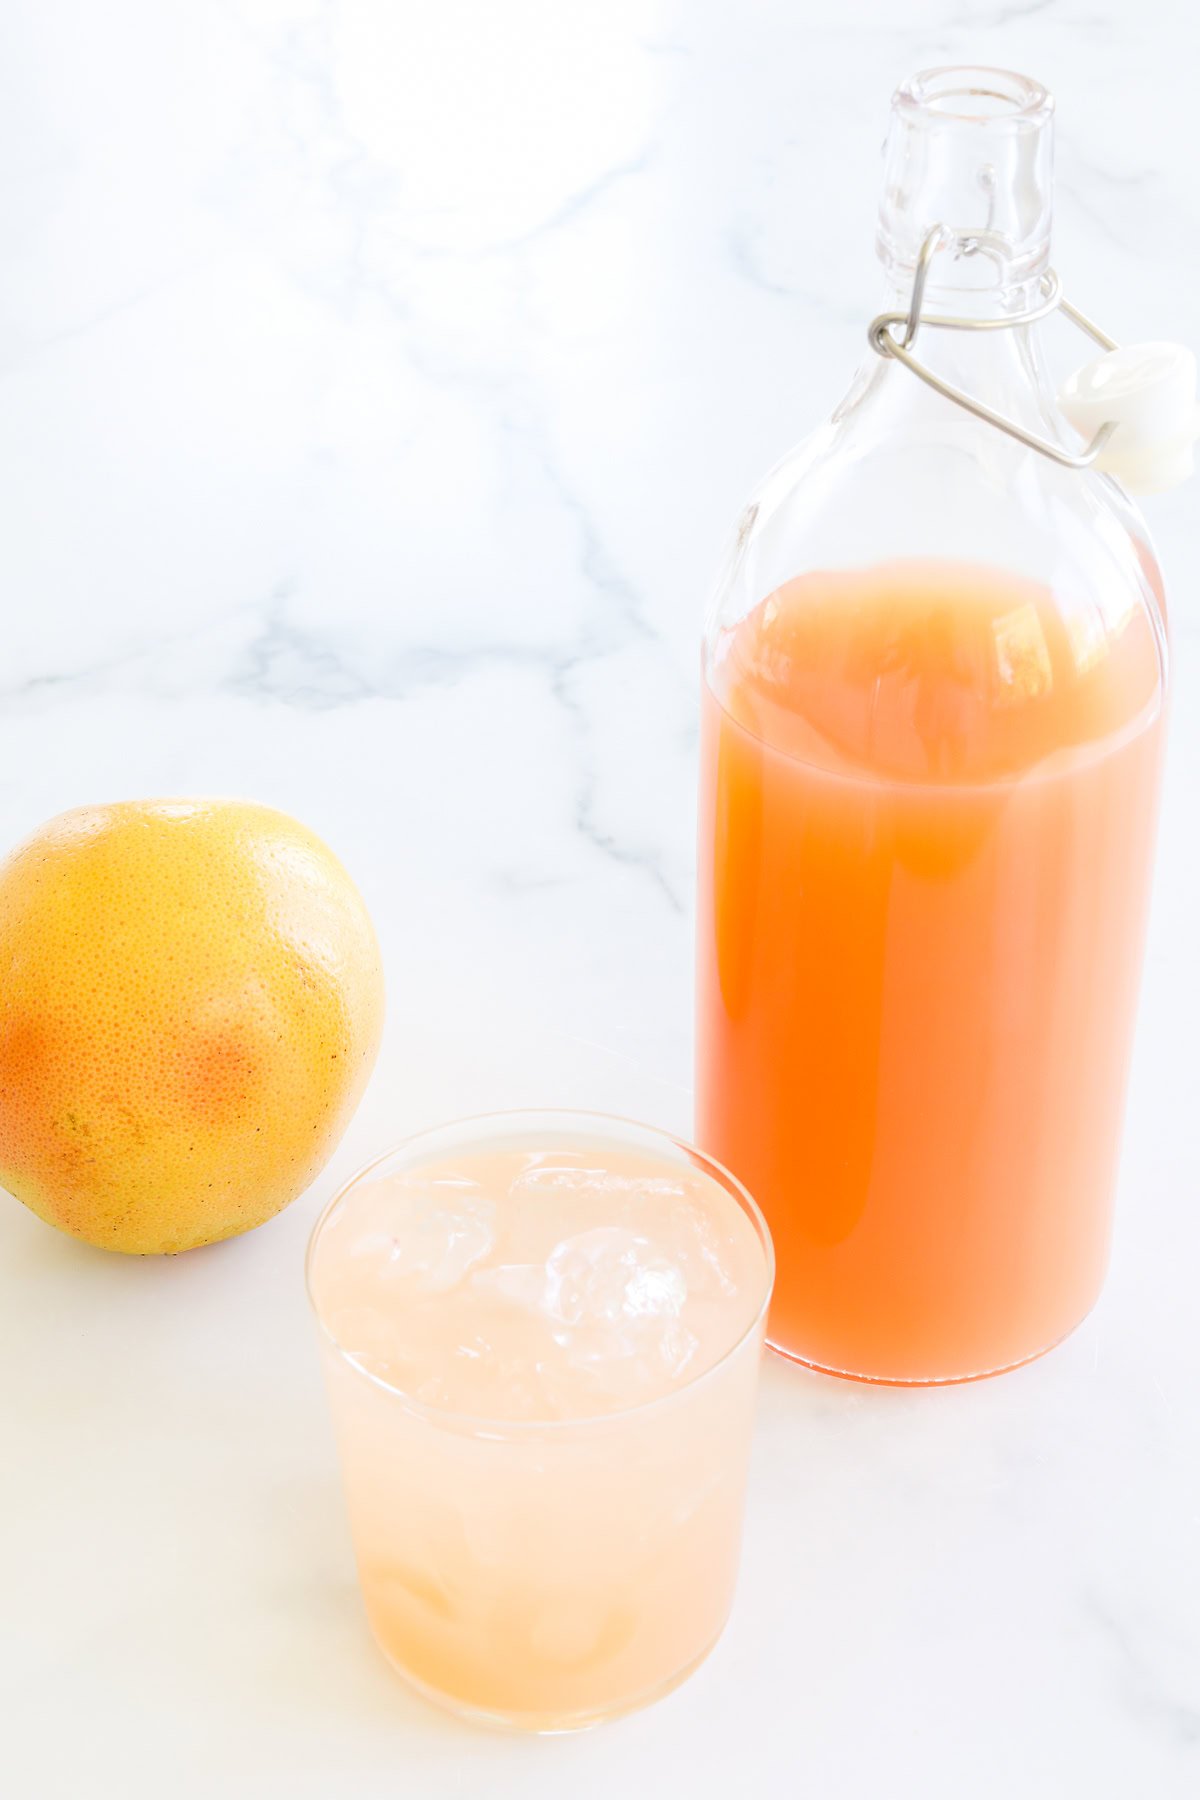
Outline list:
[[[892,101],[878,248],[907,313],[1036,310],[1052,101]],[[1078,448],[1042,324],[921,360]],[[696,1138],[763,1206],[768,1337],[867,1381],[1024,1363],[1108,1256],[1166,704],[1123,490],[869,353],[745,509],[703,641]]]

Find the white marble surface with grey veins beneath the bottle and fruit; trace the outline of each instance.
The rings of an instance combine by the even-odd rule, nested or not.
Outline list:
[[[889,92],[1045,79],[1069,292],[1195,340],[1189,0],[11,0],[4,38],[0,837],[257,796],[390,976],[344,1148],[250,1238],[140,1264],[0,1208],[4,1791],[1198,1793],[1195,486],[1148,506],[1177,706],[1105,1300],[975,1388],[770,1363],[694,1681],[545,1742],[410,1699],[300,1291],[407,1129],[687,1127],[700,612],[860,356]]]

